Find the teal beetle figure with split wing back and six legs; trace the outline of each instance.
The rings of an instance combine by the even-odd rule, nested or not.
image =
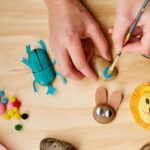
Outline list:
[[[56,64],[56,60],[52,63],[46,49],[45,43],[40,40],[39,44],[41,48],[36,48],[31,51],[30,45],[26,45],[26,52],[28,54],[28,60],[23,58],[22,62],[27,65],[34,75],[35,80],[33,81],[33,89],[34,92],[37,92],[36,82],[42,86],[47,86],[48,91],[46,94],[53,94],[56,89],[52,87],[52,82],[54,81],[56,76],[59,76],[63,82],[66,84],[66,80],[59,73],[55,72],[54,65]]]

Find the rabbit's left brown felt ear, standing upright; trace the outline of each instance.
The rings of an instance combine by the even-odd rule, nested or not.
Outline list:
[[[96,104],[106,104],[107,103],[107,90],[104,87],[99,87],[95,94]]]

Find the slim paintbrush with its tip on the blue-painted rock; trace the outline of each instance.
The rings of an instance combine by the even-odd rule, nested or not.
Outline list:
[[[135,20],[133,21],[133,23],[131,24],[131,26],[130,26],[130,28],[129,28],[129,31],[128,31],[127,35],[125,36],[125,40],[124,40],[123,45],[126,45],[127,42],[129,41],[129,39],[130,39],[130,37],[131,37],[131,34],[132,34],[132,32],[134,31],[134,29],[135,29],[135,27],[136,27],[136,25],[137,25],[139,19],[141,18],[141,16],[142,16],[142,14],[143,14],[143,12],[144,12],[144,10],[145,10],[145,8],[146,8],[148,2],[149,2],[149,0],[144,0],[144,3],[143,3],[143,5],[142,5],[140,11],[138,12],[138,14],[137,14]],[[118,62],[118,60],[119,60],[121,54],[122,54],[122,52],[118,53],[117,56],[115,57],[114,62],[112,63],[112,65],[111,65],[111,66],[109,67],[109,69],[108,69],[108,72],[107,72],[108,74],[112,74],[112,72],[113,72],[113,70],[114,70],[114,68],[115,68],[115,66],[116,66],[116,64],[117,64],[117,62]]]

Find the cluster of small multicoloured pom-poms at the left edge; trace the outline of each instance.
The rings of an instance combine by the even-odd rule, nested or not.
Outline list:
[[[24,113],[21,115],[20,113],[21,102],[15,97],[11,96],[9,98],[5,97],[4,91],[0,90],[0,115],[2,115],[3,119],[10,120],[14,118],[15,120],[27,119],[28,114]],[[21,124],[17,124],[15,126],[15,130],[21,131],[23,126]]]

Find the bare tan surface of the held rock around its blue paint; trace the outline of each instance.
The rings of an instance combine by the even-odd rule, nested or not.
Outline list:
[[[97,73],[97,75],[100,77],[100,79],[102,80],[113,80],[116,78],[118,71],[115,68],[111,78],[105,78],[104,76],[104,70],[109,67],[111,64],[110,62],[104,60],[103,58],[99,57],[99,56],[93,56],[90,60],[90,64],[92,65],[93,69],[95,70],[95,72]]]

